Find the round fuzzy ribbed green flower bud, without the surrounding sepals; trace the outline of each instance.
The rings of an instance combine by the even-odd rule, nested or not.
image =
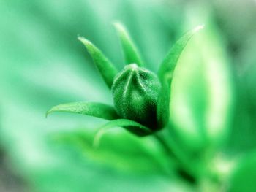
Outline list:
[[[157,98],[160,82],[156,74],[137,64],[129,64],[116,75],[112,85],[113,101],[121,118],[135,120],[157,130]]]

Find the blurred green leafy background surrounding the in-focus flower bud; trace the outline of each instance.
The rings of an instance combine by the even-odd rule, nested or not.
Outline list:
[[[105,120],[45,118],[64,102],[112,104],[77,37],[90,39],[121,69],[116,20],[155,72],[173,42],[205,24],[178,66],[171,121],[188,153],[202,150],[198,130],[207,130],[228,159],[249,154],[255,169],[256,1],[1,0],[0,15],[0,191],[193,191],[173,176],[151,138],[113,131],[95,150],[94,131]],[[256,174],[243,167],[243,175]],[[228,190],[248,186],[238,176]]]

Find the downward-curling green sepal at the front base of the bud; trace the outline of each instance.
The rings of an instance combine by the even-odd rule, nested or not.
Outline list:
[[[109,131],[110,128],[115,128],[115,127],[123,127],[127,129],[129,132],[131,132],[132,134],[135,134],[140,137],[152,134],[152,131],[149,128],[147,128],[146,126],[142,126],[140,123],[137,123],[133,120],[128,120],[128,119],[111,120],[110,122],[106,123],[104,126],[99,128],[99,131],[97,132],[97,135],[94,138],[94,146],[97,146],[99,144],[99,140],[107,131]]]

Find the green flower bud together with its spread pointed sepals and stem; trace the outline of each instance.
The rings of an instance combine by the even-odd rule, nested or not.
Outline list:
[[[126,128],[138,137],[152,135],[171,158],[176,160],[181,174],[188,180],[194,181],[196,175],[188,166],[189,160],[179,151],[175,143],[166,141],[159,130],[170,126],[168,125],[170,91],[178,58],[189,39],[203,26],[197,26],[178,39],[162,61],[158,75],[146,69],[137,47],[124,26],[121,23],[115,23],[115,26],[127,64],[121,72],[118,72],[101,50],[89,40],[78,37],[94,60],[106,85],[112,91],[114,107],[97,102],[75,102],[52,107],[46,115],[51,112],[73,112],[110,120],[99,128],[94,137],[94,146],[98,146],[105,132],[113,127]]]

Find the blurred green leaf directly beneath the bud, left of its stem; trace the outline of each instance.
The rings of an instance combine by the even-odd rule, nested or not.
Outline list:
[[[91,166],[104,164],[108,170],[116,169],[121,173],[168,174],[170,177],[173,164],[154,139],[140,139],[119,129],[105,134],[100,145],[95,148],[92,145],[94,131],[88,130],[92,129],[84,127],[50,134],[51,148],[56,153],[61,149],[64,153],[72,153],[69,156],[77,163],[91,161]]]

